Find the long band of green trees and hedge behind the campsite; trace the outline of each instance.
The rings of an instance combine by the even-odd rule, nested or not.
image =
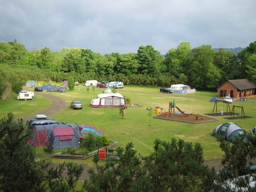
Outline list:
[[[62,82],[90,79],[122,81],[139,86],[185,83],[198,90],[216,90],[229,79],[248,78],[256,84],[256,41],[238,54],[210,45],[191,48],[181,42],[161,55],[153,46],[140,46],[137,53],[101,55],[90,49],[48,47],[28,51],[16,40],[0,42],[2,79]]]

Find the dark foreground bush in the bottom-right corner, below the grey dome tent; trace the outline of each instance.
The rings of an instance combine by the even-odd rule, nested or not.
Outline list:
[[[240,135],[232,142],[219,137],[221,150],[224,152],[222,159],[223,169],[216,185],[220,191],[255,191],[256,186],[250,185],[256,175],[250,166],[256,157],[256,135]],[[232,185],[230,184],[232,183]]]

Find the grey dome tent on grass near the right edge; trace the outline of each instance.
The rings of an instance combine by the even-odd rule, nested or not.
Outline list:
[[[212,132],[212,136],[222,135],[225,140],[232,141],[236,137],[244,134],[244,130],[236,123],[228,122],[224,124],[220,124],[216,127],[216,129]]]

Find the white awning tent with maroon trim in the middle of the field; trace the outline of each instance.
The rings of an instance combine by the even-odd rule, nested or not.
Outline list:
[[[120,93],[102,93],[91,101],[92,108],[112,108],[116,106],[126,106],[125,98]]]

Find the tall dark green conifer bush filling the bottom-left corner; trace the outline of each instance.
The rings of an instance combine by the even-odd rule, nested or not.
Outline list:
[[[0,122],[0,188],[3,191],[45,191],[44,171],[49,164],[35,159],[23,120],[12,113]]]

